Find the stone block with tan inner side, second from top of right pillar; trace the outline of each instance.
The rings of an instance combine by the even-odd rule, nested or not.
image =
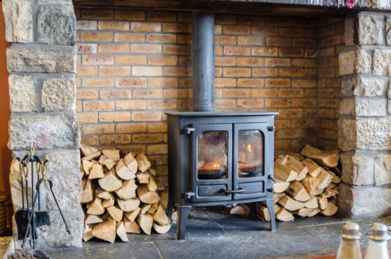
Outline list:
[[[367,73],[371,71],[372,57],[365,49],[341,52],[339,59],[340,75]]]

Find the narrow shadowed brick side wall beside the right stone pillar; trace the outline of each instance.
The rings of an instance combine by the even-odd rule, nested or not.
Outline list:
[[[342,94],[338,55],[344,50],[344,19],[319,21],[318,114],[319,148],[338,149],[337,120]]]

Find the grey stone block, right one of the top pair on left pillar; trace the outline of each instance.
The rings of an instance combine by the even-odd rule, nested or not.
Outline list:
[[[37,19],[37,41],[46,44],[74,45],[76,17],[72,6],[40,6]]]

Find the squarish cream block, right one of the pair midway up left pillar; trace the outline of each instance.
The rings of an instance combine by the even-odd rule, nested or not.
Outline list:
[[[76,85],[74,78],[54,78],[43,81],[42,109],[63,111],[76,108]]]

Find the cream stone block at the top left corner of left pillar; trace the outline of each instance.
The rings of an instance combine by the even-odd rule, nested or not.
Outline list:
[[[3,15],[8,42],[33,42],[33,8],[31,0],[3,0]]]

